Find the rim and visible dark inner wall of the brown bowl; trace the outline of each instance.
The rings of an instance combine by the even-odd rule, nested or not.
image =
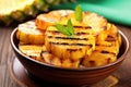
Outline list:
[[[119,54],[118,54],[118,60],[114,63],[110,63],[110,64],[107,64],[107,65],[103,65],[103,66],[96,66],[96,67],[80,67],[80,69],[64,69],[64,67],[58,67],[58,66],[55,66],[55,65],[50,65],[50,64],[47,64],[47,63],[41,63],[41,62],[38,62],[34,59],[31,59],[28,57],[26,57],[25,54],[23,54],[19,49],[19,40],[16,39],[16,30],[17,28],[15,28],[12,34],[11,34],[11,45],[13,47],[13,49],[19,52],[20,54],[22,54],[24,58],[26,59],[29,59],[31,61],[34,61],[38,64],[43,64],[43,65],[47,65],[47,66],[50,66],[50,67],[56,67],[56,69],[62,69],[62,70],[75,70],[75,71],[83,71],[83,70],[94,70],[94,69],[103,69],[103,67],[106,67],[106,66],[109,66],[111,64],[115,64],[115,63],[118,63],[120,62],[121,60],[124,59],[127,52],[128,52],[128,49],[129,49],[129,40],[128,38],[126,37],[126,35],[119,30],[119,34],[121,35],[122,37],[122,44],[121,44],[121,47],[120,47],[120,50],[119,50]]]

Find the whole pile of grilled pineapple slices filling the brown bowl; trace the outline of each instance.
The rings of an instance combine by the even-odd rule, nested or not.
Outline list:
[[[56,28],[71,20],[74,35],[69,37]],[[100,66],[117,60],[121,37],[118,28],[103,16],[83,12],[78,22],[74,11],[58,10],[40,14],[17,26],[19,49],[29,58],[61,67]]]

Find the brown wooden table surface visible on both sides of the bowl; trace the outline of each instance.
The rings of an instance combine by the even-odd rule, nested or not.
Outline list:
[[[131,49],[131,27],[117,26],[129,38]],[[0,27],[0,87],[17,87],[8,71],[8,60],[15,57],[10,45],[10,34],[12,30],[13,27]],[[115,87],[131,87],[131,50],[114,75],[119,78],[119,83]]]

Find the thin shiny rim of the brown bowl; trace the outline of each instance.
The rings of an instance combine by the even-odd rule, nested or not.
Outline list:
[[[109,63],[109,64],[106,64],[106,65],[102,65],[102,66],[95,66],[95,67],[78,67],[78,69],[70,69],[70,67],[60,67],[60,66],[56,66],[56,65],[51,65],[51,64],[48,64],[48,63],[44,63],[44,62],[39,62],[37,60],[34,60],[34,59],[31,59],[29,57],[25,55],[24,53],[22,53],[17,48],[16,46],[14,45],[14,41],[13,41],[13,37],[14,37],[14,34],[16,33],[17,30],[17,27],[13,29],[13,32],[11,33],[11,37],[10,37],[10,41],[11,41],[11,46],[12,48],[19,52],[22,57],[26,58],[27,60],[32,61],[32,62],[35,62],[37,64],[40,64],[40,65],[45,65],[45,66],[48,66],[48,67],[51,67],[51,69],[57,69],[57,70],[64,70],[64,71],[76,71],[76,72],[82,72],[82,71],[95,71],[95,70],[100,70],[100,69],[106,69],[106,67],[109,67],[111,65],[115,65],[117,63],[119,63],[120,61],[122,61],[126,57],[126,54],[129,52],[129,39],[127,38],[127,36],[119,29],[119,34],[124,38],[126,40],[126,44],[127,44],[127,48],[126,48],[126,51],[123,52],[123,54],[120,55],[120,58],[112,62],[112,63]],[[19,58],[17,58],[19,59]]]

